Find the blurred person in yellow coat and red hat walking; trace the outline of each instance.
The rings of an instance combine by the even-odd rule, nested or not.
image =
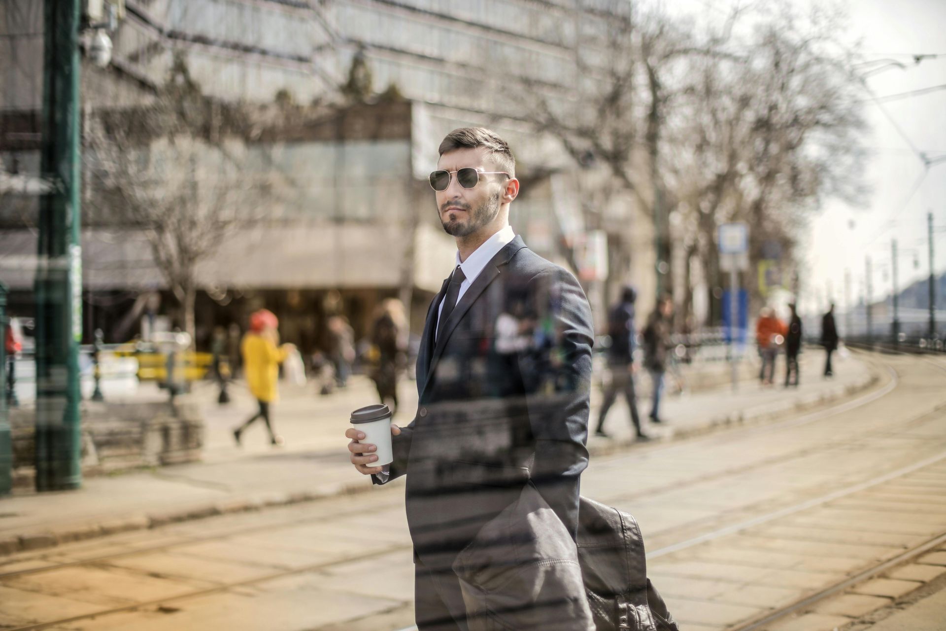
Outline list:
[[[246,423],[234,429],[236,444],[240,444],[240,434],[250,427],[257,418],[262,418],[266,429],[270,432],[272,445],[282,445],[283,437],[272,431],[270,418],[270,404],[278,397],[276,381],[279,379],[279,364],[294,348],[292,344],[278,345],[279,333],[276,328],[279,320],[272,311],[260,309],[250,316],[250,331],[243,336],[240,343],[240,352],[243,356],[243,374],[250,392],[259,403],[259,412],[256,412]]]

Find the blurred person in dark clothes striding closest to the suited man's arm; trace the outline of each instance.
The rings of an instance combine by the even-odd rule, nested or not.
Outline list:
[[[637,371],[637,365],[634,363],[634,339],[637,337],[637,327],[634,325],[634,302],[637,298],[638,292],[633,287],[625,287],[622,291],[621,302],[612,307],[608,314],[607,334],[611,338],[611,345],[607,347],[606,370],[609,378],[604,387],[601,411],[598,412],[596,436],[608,437],[604,432],[604,417],[607,416],[608,410],[621,393],[627,401],[631,422],[634,424],[638,440],[649,438],[640,429],[638,396],[634,391],[634,373]]]

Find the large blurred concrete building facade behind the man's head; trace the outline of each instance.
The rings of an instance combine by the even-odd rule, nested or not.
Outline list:
[[[16,51],[0,56],[5,88],[0,153],[8,170],[38,168],[42,37],[29,34],[42,31],[39,4],[9,0],[0,7],[0,27],[15,35],[3,45]],[[615,6],[606,4],[604,9]],[[511,87],[517,77],[529,77],[556,107],[566,112],[580,107],[575,56],[579,44],[587,43],[587,32],[607,19],[594,5],[590,0],[126,0],[110,67],[83,64],[84,105],[120,109],[148,102],[177,57],[206,96],[260,108],[274,102],[315,108],[338,102],[339,86],[356,57],[369,69],[375,93],[393,85],[404,97],[356,107],[349,117],[360,122],[343,129],[333,131],[328,116],[305,129],[273,127],[247,145],[247,163],[265,165],[282,184],[266,202],[265,222],[228,238],[201,264],[206,295],[199,305],[218,314],[202,323],[204,337],[209,327],[233,316],[222,307],[249,309],[277,296],[281,301],[286,292],[294,292],[289,303],[302,304],[303,310],[341,292],[359,305],[347,310],[363,334],[361,323],[377,300],[404,296],[405,285],[413,293],[413,327],[422,325],[416,314],[440,288],[455,251],[437,222],[426,177],[435,167],[440,140],[464,125],[495,129],[515,149],[523,194],[513,204],[511,220],[530,247],[582,276],[599,315],[624,282],[639,287],[646,310],[654,285],[648,219],[619,196],[589,224],[580,191],[583,182],[600,175],[576,167],[556,139],[536,133],[517,110],[521,106]],[[583,50],[588,54],[593,46]],[[382,113],[391,129],[371,132],[370,121],[377,128]],[[14,289],[14,303],[26,304],[32,283],[27,259],[35,252],[28,222],[35,200],[19,195],[4,208],[0,276]],[[587,260],[582,242],[589,228],[620,234],[623,243],[632,244],[630,255],[626,246],[623,252],[597,253],[609,264],[606,280],[579,269]],[[142,239],[122,226],[90,223],[83,231],[83,282],[94,292],[90,305],[100,292],[124,295],[121,304],[128,308],[135,292],[165,287]],[[605,249],[609,242],[613,239],[604,238]]]

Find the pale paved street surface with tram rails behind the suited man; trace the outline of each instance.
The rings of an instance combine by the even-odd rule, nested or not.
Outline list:
[[[749,625],[946,534],[946,360],[878,360],[883,377],[851,403],[592,459],[583,494],[638,518],[648,574],[681,629],[827,631],[946,567],[937,544],[789,618]],[[625,422],[612,413],[609,425]],[[411,624],[411,544],[396,482],[22,552],[0,565],[0,625],[9,629]]]

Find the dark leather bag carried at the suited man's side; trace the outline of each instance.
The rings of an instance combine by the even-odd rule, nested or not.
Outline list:
[[[453,564],[470,631],[678,631],[634,517],[581,498],[577,546],[532,483]]]

